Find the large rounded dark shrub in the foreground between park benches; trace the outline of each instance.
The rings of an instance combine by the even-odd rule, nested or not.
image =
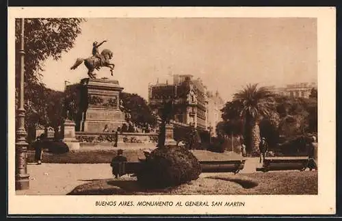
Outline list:
[[[198,179],[202,172],[198,159],[185,148],[156,148],[142,163],[137,181],[146,188],[164,188]]]

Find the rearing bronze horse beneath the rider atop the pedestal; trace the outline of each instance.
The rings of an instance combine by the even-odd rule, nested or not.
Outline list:
[[[77,58],[75,64],[70,69],[75,70],[80,64],[82,64],[82,62],[84,62],[84,65],[88,68],[88,75],[92,79],[96,78],[94,70],[99,70],[99,68],[101,67],[110,68],[111,76],[113,76],[115,64],[109,62],[109,60],[111,60],[112,57],[113,52],[111,52],[109,49],[103,49],[99,57],[91,56],[86,59]]]

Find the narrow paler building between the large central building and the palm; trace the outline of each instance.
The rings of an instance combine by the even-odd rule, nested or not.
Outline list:
[[[216,125],[222,121],[221,109],[224,107],[224,101],[222,100],[218,91],[213,94],[207,92],[208,105],[207,105],[207,125],[211,127],[211,135],[216,136]]]

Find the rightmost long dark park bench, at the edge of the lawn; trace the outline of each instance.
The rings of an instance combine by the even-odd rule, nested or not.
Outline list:
[[[308,157],[268,157],[263,166],[257,171],[267,172],[271,170],[302,170],[308,163]]]

